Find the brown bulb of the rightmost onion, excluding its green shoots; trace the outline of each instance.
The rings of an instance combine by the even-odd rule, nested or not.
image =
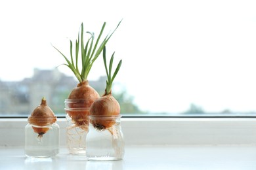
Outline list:
[[[99,118],[95,118],[92,120],[93,126],[98,129],[106,129],[111,127],[116,123],[115,118],[104,118],[100,119],[102,116],[118,116],[120,113],[120,105],[118,101],[112,96],[111,93],[108,95],[103,95],[99,99],[91,105],[90,115],[91,116],[99,116]]]

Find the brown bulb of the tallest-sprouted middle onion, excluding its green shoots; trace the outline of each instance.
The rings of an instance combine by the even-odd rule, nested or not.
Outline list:
[[[99,97],[100,95],[98,95],[98,92],[96,92],[96,90],[89,85],[88,80],[77,84],[77,86],[72,90],[72,92],[68,96],[68,99],[81,99],[81,104],[79,104],[79,106],[76,106],[70,103],[68,107],[70,109],[79,108],[81,106],[83,108],[88,108],[87,110],[66,111],[70,118],[72,118],[72,120],[75,122],[76,126],[80,126],[82,129],[84,128],[85,130],[87,130],[87,126],[89,125],[89,108],[91,107],[95,99],[98,99]],[[85,102],[84,99],[88,99],[89,102]]]

